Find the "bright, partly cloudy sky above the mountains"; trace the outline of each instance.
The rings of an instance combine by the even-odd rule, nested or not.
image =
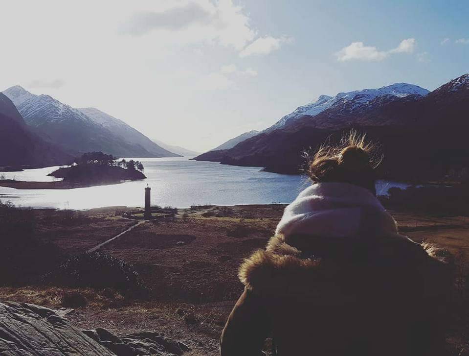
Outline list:
[[[469,72],[469,1],[0,0],[0,90],[203,152],[321,94]]]

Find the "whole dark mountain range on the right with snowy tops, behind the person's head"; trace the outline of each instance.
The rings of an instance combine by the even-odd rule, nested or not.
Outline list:
[[[337,141],[352,128],[381,143],[382,177],[429,179],[469,166],[469,74],[431,93],[400,83],[321,95],[258,135],[195,159],[297,173],[303,151]]]

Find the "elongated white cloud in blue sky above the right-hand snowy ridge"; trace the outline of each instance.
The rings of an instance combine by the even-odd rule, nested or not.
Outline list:
[[[393,53],[411,53],[415,48],[415,39],[402,40],[398,47],[387,51],[380,51],[376,47],[365,46],[363,42],[352,42],[349,46],[335,53],[339,62],[351,60],[381,61]]]

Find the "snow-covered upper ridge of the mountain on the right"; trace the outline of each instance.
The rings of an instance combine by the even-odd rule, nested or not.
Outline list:
[[[282,119],[270,126],[265,132],[285,127],[297,119],[304,116],[316,116],[323,111],[336,108],[347,110],[353,113],[364,109],[372,102],[378,102],[377,98],[402,98],[409,95],[424,96],[429,93],[428,90],[417,85],[407,83],[396,83],[378,89],[363,89],[353,92],[339,93],[335,96],[320,95],[319,98],[309,104],[299,106],[295,111],[285,115]]]

